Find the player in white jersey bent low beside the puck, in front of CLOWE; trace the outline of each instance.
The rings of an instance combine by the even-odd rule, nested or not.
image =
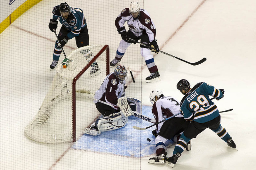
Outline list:
[[[173,97],[165,97],[161,90],[153,90],[150,95],[150,102],[153,104],[152,113],[156,123],[180,113],[180,103]],[[152,131],[156,137],[156,157],[150,158],[148,163],[164,164],[167,152],[166,141],[172,140],[177,143],[181,133],[188,126],[189,122],[180,114],[162,123],[156,124],[156,130]],[[191,149],[191,142],[187,145],[187,151]]]

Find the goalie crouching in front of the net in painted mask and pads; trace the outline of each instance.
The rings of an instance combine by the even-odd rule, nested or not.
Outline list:
[[[122,128],[127,123],[127,117],[136,112],[141,113],[141,102],[134,98],[125,97],[126,77],[127,70],[123,65],[117,66],[114,72],[106,76],[94,96],[94,98],[102,101],[95,101],[95,106],[104,117],[97,119],[83,133],[97,136],[103,131]]]

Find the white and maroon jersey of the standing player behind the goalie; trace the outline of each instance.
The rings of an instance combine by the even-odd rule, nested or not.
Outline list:
[[[148,34],[149,41],[153,41],[156,37],[156,28],[153,21],[150,18],[148,11],[140,9],[140,15],[137,19],[134,19],[129,12],[129,8],[123,9],[121,14],[116,18],[115,25],[117,29],[124,26],[127,21],[129,29],[139,37],[143,33]]]

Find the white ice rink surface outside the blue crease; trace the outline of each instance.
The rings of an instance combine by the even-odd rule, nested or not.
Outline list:
[[[216,134],[207,129],[193,139],[192,150],[183,152],[174,168],[177,170],[255,169],[254,119],[256,116],[253,105],[256,85],[254,66],[256,1],[164,0],[156,3],[145,0],[141,2],[156,25],[156,39],[160,50],[190,62],[207,58],[204,63],[191,66],[161,53],[154,55],[162,81],[151,84],[144,81],[149,74],[143,61],[144,104],[151,104],[148,96],[155,88],[161,89],[166,96],[175,96],[181,100],[183,95],[176,89],[176,84],[180,79],[187,79],[192,86],[204,81],[225,89],[225,97],[215,103],[220,111],[234,109],[232,112],[221,114],[221,124],[233,137],[238,151],[229,148]],[[70,6],[74,7],[80,5],[72,1],[68,3],[73,4]],[[37,113],[55,74],[54,71],[49,71],[55,36],[48,30],[47,25],[51,18],[51,9],[56,4],[60,2],[40,2],[0,34],[0,169],[86,169],[87,161],[95,161],[94,169],[97,167],[125,169],[122,166],[125,162],[134,162],[136,165],[134,169],[170,169],[166,165],[148,164],[150,157],[135,159],[67,150],[70,144],[44,145],[25,137],[24,128]],[[126,6],[119,5],[116,11],[110,13],[112,18],[109,22],[112,26],[106,27],[112,30],[113,36],[118,37],[119,40],[114,20],[122,8],[128,7],[129,1],[126,4]],[[104,5],[101,4],[102,8]],[[108,3],[108,5],[115,6],[116,3]],[[198,10],[194,11],[198,6]],[[41,10],[42,7],[48,10],[44,11],[48,14],[38,15],[42,17],[38,21],[30,14]],[[81,8],[85,9],[86,5],[82,4]],[[95,12],[100,11],[95,10]],[[90,13],[89,18],[86,18],[87,22],[92,22],[93,17],[98,16]],[[102,17],[104,20],[102,22],[107,19],[109,18]],[[35,25],[33,28],[29,26],[31,23]],[[90,31],[95,32],[92,28],[89,34]],[[109,41],[111,53],[114,54],[119,40],[112,42],[111,36],[103,37],[102,43]],[[91,42],[93,44],[99,41],[91,37]],[[139,53],[138,45],[132,46],[136,47]],[[69,42],[65,52],[70,53],[75,48],[73,40]],[[113,56],[110,56],[110,60],[112,58]],[[129,60],[125,62],[128,64]],[[134,67],[134,72],[141,73],[140,67]],[[132,83],[130,85],[134,86]],[[167,150],[168,156],[171,156],[172,151],[173,147]],[[45,155],[48,155],[47,158]],[[99,159],[92,160],[92,157]],[[103,161],[101,161],[102,157],[104,157]],[[111,166],[109,162],[114,162],[116,165]],[[118,163],[120,166],[117,165]],[[105,166],[106,164],[108,166]]]

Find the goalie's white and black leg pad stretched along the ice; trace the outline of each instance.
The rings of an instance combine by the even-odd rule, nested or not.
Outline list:
[[[121,115],[120,112],[113,113],[107,117],[103,117],[97,120],[98,131],[113,131],[122,128],[127,123],[127,117]]]

